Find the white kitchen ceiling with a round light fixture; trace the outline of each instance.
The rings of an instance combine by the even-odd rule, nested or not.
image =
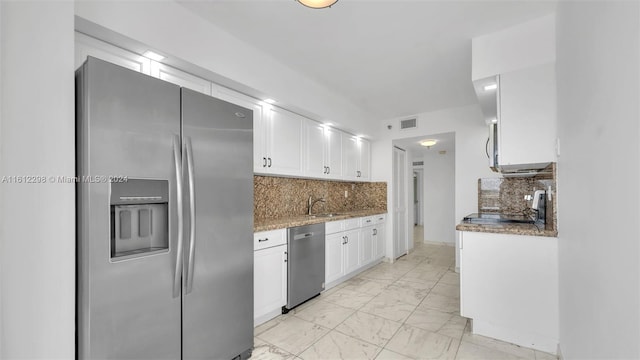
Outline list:
[[[178,1],[372,120],[475,103],[471,39],[556,7],[525,0],[340,0],[315,10],[293,0]]]

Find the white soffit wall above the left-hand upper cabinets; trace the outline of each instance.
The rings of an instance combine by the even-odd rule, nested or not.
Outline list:
[[[362,110],[343,96],[173,1],[154,1],[152,5],[146,1],[76,1],[75,12],[156,51],[267,94],[285,107],[292,104],[316,114],[316,120],[331,120],[351,132],[368,128]]]

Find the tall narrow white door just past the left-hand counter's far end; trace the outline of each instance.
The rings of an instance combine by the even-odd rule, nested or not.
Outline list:
[[[407,253],[407,184],[404,150],[393,148],[393,242],[394,259]]]

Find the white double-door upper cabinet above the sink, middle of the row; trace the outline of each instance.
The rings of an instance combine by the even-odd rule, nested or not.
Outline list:
[[[312,120],[304,122],[304,176],[342,178],[342,132]]]

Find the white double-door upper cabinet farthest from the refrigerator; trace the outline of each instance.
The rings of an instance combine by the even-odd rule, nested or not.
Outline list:
[[[342,171],[345,180],[368,181],[371,178],[371,143],[357,136],[342,137]]]

